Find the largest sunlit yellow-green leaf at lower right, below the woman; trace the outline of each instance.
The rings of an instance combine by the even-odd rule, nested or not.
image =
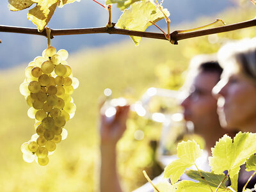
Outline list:
[[[240,166],[256,151],[255,140],[256,134],[239,132],[236,134],[234,142],[232,138],[225,135],[212,148],[212,157],[209,157],[212,171],[220,174],[228,170],[231,186],[235,190],[237,189],[237,173]],[[233,184],[234,182],[236,184]]]

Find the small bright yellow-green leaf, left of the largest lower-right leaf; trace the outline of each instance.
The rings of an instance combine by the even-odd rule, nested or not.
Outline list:
[[[192,166],[196,159],[202,156],[203,150],[195,141],[182,141],[177,147],[177,156],[179,159],[172,161],[164,168],[164,177],[170,177],[173,183],[180,179],[180,176],[186,168]]]

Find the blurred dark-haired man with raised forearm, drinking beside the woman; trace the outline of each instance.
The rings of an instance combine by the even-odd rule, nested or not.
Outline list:
[[[190,68],[186,83],[190,91],[181,106],[184,108],[185,120],[193,122],[195,133],[205,138],[205,150],[211,154],[211,147],[214,147],[216,141],[225,134],[216,113],[217,101],[211,93],[212,88],[220,80],[222,68],[212,56],[205,55],[193,58]],[[111,124],[107,123],[106,116],[101,117],[100,191],[102,192],[122,191],[116,170],[116,143],[126,129],[128,111],[129,106],[116,108],[116,116]],[[136,191],[148,191],[148,186],[146,184]],[[152,191],[151,186],[149,191]]]

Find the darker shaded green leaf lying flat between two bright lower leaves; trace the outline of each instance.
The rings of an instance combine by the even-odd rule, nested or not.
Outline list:
[[[190,177],[191,179],[195,179],[198,180],[200,182],[207,182],[207,184],[209,184],[210,186],[213,186],[215,188],[218,188],[219,184],[224,180],[225,178],[225,174],[215,174],[215,173],[211,173],[211,172],[204,172],[202,170],[200,170],[200,173],[202,175],[202,177],[204,177],[204,179],[201,177],[200,173],[196,170],[189,170],[188,172],[185,172],[186,175],[188,175],[188,177]],[[226,178],[225,180],[227,180],[228,178]],[[225,181],[223,181],[223,184],[221,184],[221,188],[227,188],[225,186]]]

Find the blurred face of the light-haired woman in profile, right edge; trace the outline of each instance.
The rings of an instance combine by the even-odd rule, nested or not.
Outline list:
[[[226,69],[212,92],[221,101],[218,114],[223,127],[244,130],[250,122],[255,122],[256,83],[252,79]]]

